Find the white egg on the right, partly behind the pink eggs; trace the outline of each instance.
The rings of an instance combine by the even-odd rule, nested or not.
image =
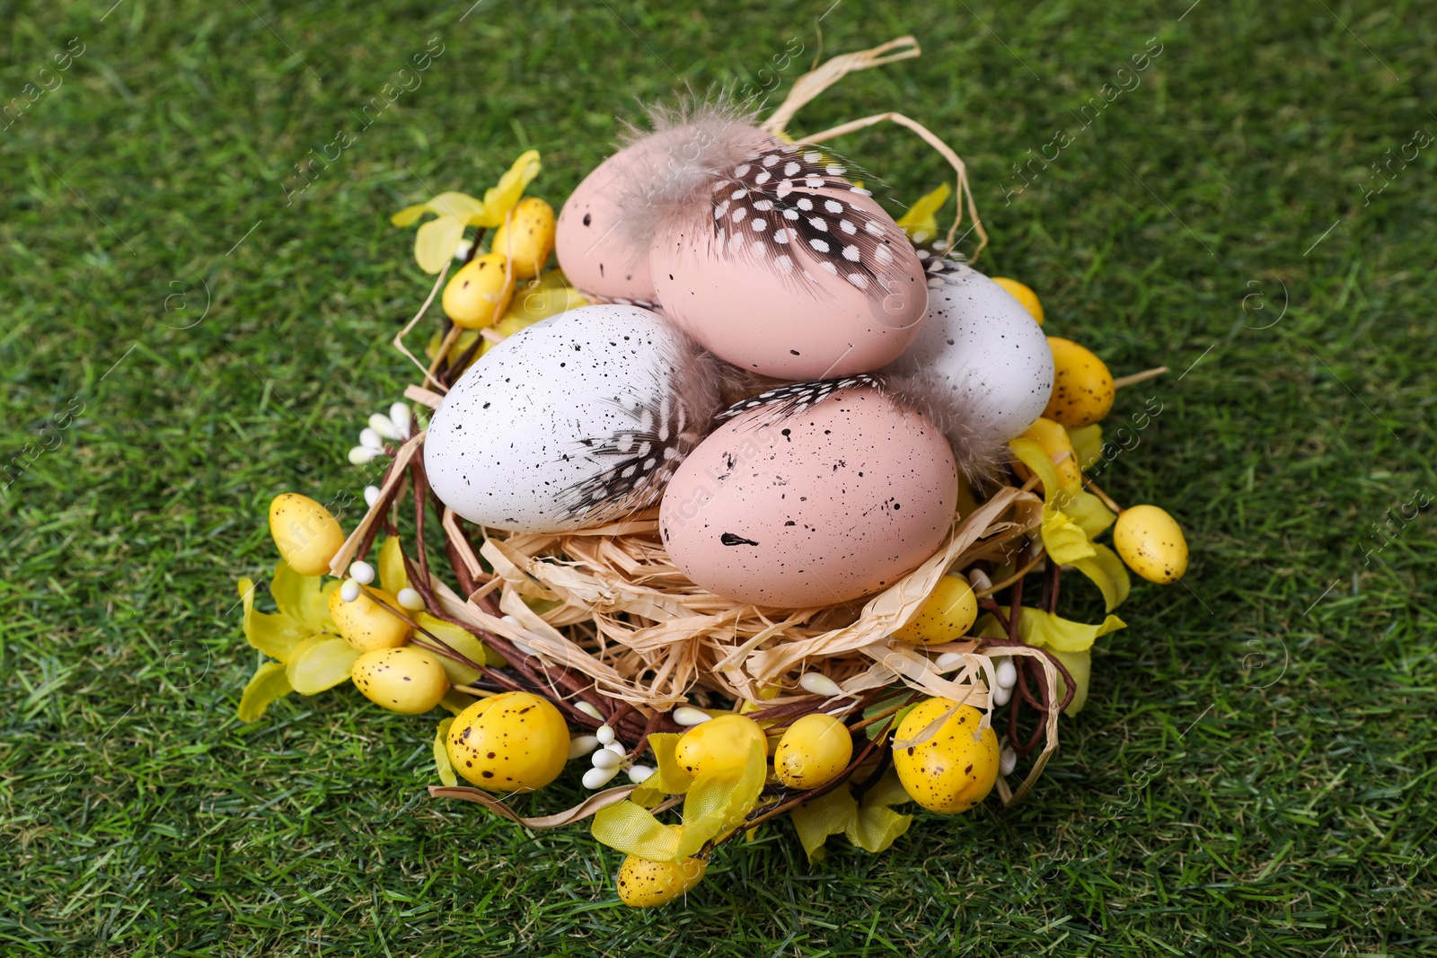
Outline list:
[[[934,402],[981,419],[1007,442],[1043,414],[1053,391],[1053,350],[1043,327],[1007,290],[961,263],[928,277],[928,315],[912,346],[885,373],[921,372]]]

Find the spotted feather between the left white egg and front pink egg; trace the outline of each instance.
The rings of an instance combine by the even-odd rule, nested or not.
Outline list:
[[[708,434],[723,378],[718,362],[690,345],[668,376],[655,373],[642,389],[614,396],[631,425],[581,440],[575,455],[614,464],[559,493],[563,518],[593,526],[658,501],[674,470]]]

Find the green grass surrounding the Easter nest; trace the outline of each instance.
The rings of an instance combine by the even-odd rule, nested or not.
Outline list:
[[[1437,487],[1430,9],[831,4],[4,4],[0,951],[1437,949],[1437,518],[1404,506]],[[632,912],[586,827],[430,800],[433,718],[341,688],[240,724],[234,580],[273,564],[276,493],[358,516],[345,450],[411,382],[388,339],[428,290],[389,214],[530,147],[558,205],[635,99],[769,89],[802,49],[782,96],[819,17],[825,56],[924,56],[795,131],[927,124],[970,164],[980,266],[1119,375],[1171,368],[1121,394],[1111,428],[1161,414],[1102,484],[1193,563],[1134,589],[1020,807],[815,865],[780,823]],[[892,126],[838,145],[897,201],[944,177]]]

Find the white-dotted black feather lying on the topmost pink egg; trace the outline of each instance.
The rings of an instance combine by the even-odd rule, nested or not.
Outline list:
[[[816,289],[822,271],[869,296],[897,293],[907,267],[895,250],[908,238],[888,217],[854,201],[872,194],[845,180],[845,172],[842,164],[803,144],[753,149],[714,185],[716,247],[808,280],[800,287]]]

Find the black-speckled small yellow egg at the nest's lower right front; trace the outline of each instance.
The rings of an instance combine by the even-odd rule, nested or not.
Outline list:
[[[930,698],[904,715],[895,738],[915,738],[953,708],[948,698]],[[997,733],[979,731],[983,712],[961,705],[927,741],[894,748],[898,781],[914,801],[938,814],[967,811],[987,797],[997,781]]]

